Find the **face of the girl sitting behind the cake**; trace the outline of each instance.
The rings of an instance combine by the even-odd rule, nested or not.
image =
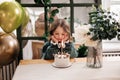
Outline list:
[[[67,33],[64,31],[62,27],[57,27],[56,30],[53,33],[53,36],[61,42],[64,38],[67,37]]]

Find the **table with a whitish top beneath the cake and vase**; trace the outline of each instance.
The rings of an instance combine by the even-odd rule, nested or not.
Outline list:
[[[104,61],[102,68],[89,68],[85,59],[71,60],[68,68],[53,67],[52,60],[21,60],[12,80],[120,80],[120,61]]]

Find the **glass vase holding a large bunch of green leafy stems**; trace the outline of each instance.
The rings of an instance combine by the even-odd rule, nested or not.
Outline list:
[[[92,41],[98,42],[96,46],[88,49],[87,66],[102,67],[102,40],[111,40],[119,34],[120,25],[116,16],[115,13],[103,10],[101,7],[93,7],[92,12],[89,13],[91,27],[87,34],[91,35]]]

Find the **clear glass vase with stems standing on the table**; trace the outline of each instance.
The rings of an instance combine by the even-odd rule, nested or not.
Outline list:
[[[94,47],[88,47],[87,66],[91,68],[102,67],[102,41]]]

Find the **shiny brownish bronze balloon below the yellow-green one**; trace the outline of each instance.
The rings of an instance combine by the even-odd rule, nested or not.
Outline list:
[[[11,63],[18,56],[19,49],[14,34],[0,33],[0,66]]]

